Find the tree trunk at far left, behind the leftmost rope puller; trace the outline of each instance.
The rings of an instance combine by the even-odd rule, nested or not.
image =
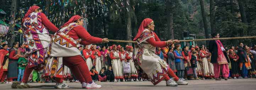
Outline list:
[[[14,37],[14,26],[15,26],[15,14],[17,12],[17,0],[12,0],[12,5],[11,5],[11,14],[10,14],[10,30],[11,30],[11,35],[12,35],[12,39],[11,42],[9,43],[10,45],[15,41],[15,37]]]

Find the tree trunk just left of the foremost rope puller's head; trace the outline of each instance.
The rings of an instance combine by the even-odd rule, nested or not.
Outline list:
[[[129,3],[130,3],[130,0],[126,0],[126,2],[124,2],[124,3],[126,3],[126,7],[127,7],[127,9],[128,9],[128,11],[126,11],[126,15],[127,15],[127,17],[126,17],[126,33],[127,33],[127,35],[126,35],[126,40],[132,40],[132,28],[131,28],[131,25],[132,25],[132,23],[131,23],[131,14],[130,14],[130,11],[131,11],[131,9],[130,9],[130,5],[128,5]],[[127,43],[127,45],[132,45],[132,43]]]

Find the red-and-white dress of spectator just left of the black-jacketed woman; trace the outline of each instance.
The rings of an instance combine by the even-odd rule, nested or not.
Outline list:
[[[204,50],[200,50],[200,57],[202,59],[202,67],[204,68],[204,77],[210,77],[210,71],[208,66],[208,60],[206,57],[206,52]]]

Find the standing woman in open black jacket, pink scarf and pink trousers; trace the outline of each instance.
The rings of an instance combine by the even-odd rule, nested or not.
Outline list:
[[[212,33],[212,38],[219,38],[218,33]],[[222,70],[222,75],[224,76],[225,80],[228,80],[229,75],[229,68],[228,68],[228,61],[223,54],[225,51],[224,46],[222,45],[220,40],[212,40],[209,42],[209,51],[212,53],[211,56],[211,63],[214,67],[214,77],[216,80],[219,79],[219,73]],[[222,69],[221,69],[222,68]]]

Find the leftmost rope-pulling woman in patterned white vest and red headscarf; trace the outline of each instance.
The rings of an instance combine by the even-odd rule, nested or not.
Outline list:
[[[28,9],[22,19],[22,25],[28,65],[24,71],[23,83],[21,84],[26,84],[33,69],[43,69],[44,56],[51,39],[49,30],[56,32],[58,28],[47,19],[45,14],[42,13],[42,9],[38,6],[31,6]]]

